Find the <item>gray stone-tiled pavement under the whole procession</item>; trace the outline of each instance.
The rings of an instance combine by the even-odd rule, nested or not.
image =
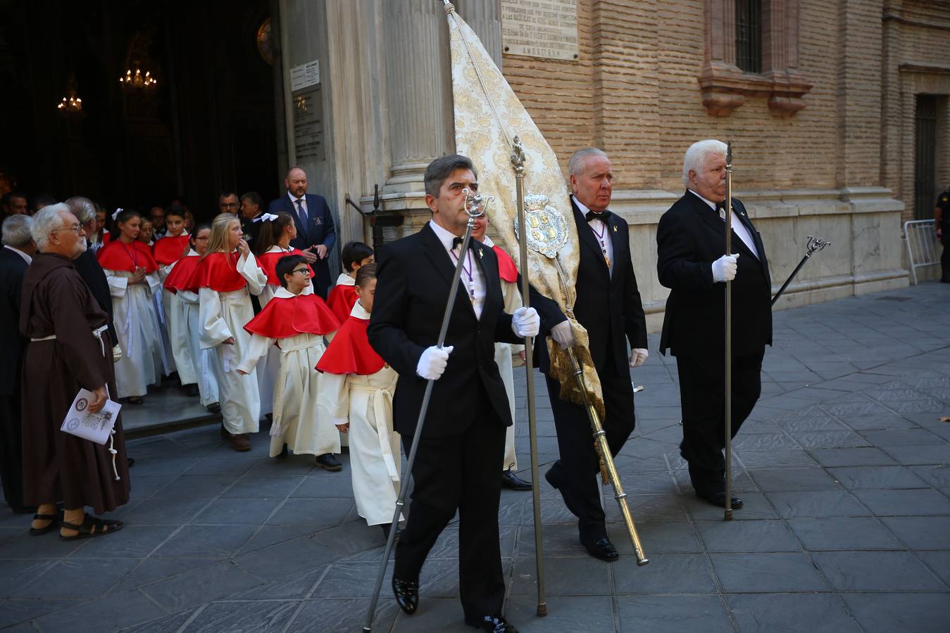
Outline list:
[[[948,312],[950,286],[923,284],[776,313],[763,397],[734,443],[746,506],[731,523],[693,497],[675,363],[655,351],[632,372],[645,390],[618,457],[650,565],[637,568],[609,490],[613,565],[580,549],[542,483],[549,615],[536,618],[531,496],[505,492],[509,618],[528,632],[948,630]],[[536,384],[546,463],[557,444]],[[270,459],[266,432],[253,441],[238,455],[204,427],[130,442],[134,499],[113,536],[30,537],[25,517],[0,512],[0,628],[360,630],[383,539],[355,513],[348,468]],[[457,536],[453,523],[432,550],[419,612],[384,592],[374,630],[473,630]]]

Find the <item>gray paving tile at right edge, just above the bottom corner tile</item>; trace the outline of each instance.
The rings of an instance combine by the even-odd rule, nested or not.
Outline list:
[[[839,591],[941,591],[946,587],[908,551],[816,551],[815,564]]]

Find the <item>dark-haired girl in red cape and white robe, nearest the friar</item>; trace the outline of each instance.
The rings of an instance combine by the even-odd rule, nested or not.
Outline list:
[[[161,379],[161,334],[152,295],[161,288],[158,264],[139,241],[142,216],[132,210],[116,214],[118,234],[96,253],[112,294],[116,337],[122,358],[116,363],[117,398],[142,404],[148,385]]]

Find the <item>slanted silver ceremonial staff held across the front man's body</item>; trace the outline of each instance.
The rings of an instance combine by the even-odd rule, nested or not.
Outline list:
[[[458,293],[459,289],[459,279],[462,276],[462,265],[466,261],[465,253],[468,251],[468,245],[471,243],[472,238],[472,227],[475,226],[475,218],[480,217],[485,214],[485,209],[483,208],[483,201],[485,202],[485,207],[493,198],[485,197],[483,199],[482,195],[471,195],[469,190],[463,189],[463,194],[466,196],[465,200],[465,209],[466,214],[468,214],[468,222],[466,223],[466,235],[462,238],[462,256],[459,257],[459,261],[455,264],[455,276],[452,277],[452,285],[448,289],[448,301],[446,303],[446,311],[442,316],[442,327],[439,329],[439,340],[436,343],[436,346],[439,349],[442,349],[443,345],[446,343],[446,333],[448,331],[448,319],[452,313],[452,306],[455,304],[455,295]],[[415,461],[416,450],[419,448],[419,438],[422,438],[422,427],[423,423],[426,421],[426,413],[428,412],[428,400],[432,396],[432,385],[435,383],[433,380],[426,381],[426,392],[423,394],[422,398],[422,407],[419,409],[419,419],[416,420],[416,430],[415,435],[412,436],[412,445],[409,447],[409,456],[406,457],[406,472],[412,473],[412,462]],[[376,586],[372,590],[372,598],[370,601],[370,611],[366,616],[366,624],[363,626],[364,631],[372,630],[372,618],[376,612],[376,603],[379,602],[379,591],[383,586],[383,579],[386,577],[386,567],[390,562],[390,552],[392,551],[392,543],[395,540],[396,532],[399,529],[399,515],[402,514],[403,506],[406,503],[406,493],[409,491],[409,476],[404,476],[402,482],[399,485],[399,498],[396,499],[396,509],[392,512],[392,524],[390,525],[390,534],[386,539],[386,548],[383,550],[383,560],[379,564],[379,573],[376,575]]]

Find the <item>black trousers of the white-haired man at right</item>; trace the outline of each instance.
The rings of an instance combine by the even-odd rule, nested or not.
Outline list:
[[[739,432],[762,393],[762,358],[757,354],[732,357],[731,437]],[[677,355],[683,441],[679,454],[690,464],[693,489],[699,494],[726,489],[725,359]]]

